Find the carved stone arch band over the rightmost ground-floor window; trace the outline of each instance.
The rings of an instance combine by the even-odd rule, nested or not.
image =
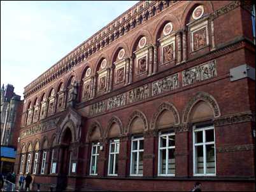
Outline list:
[[[213,110],[214,118],[217,118],[220,116],[220,107],[218,107],[218,103],[214,99],[214,97],[205,92],[198,92],[194,97],[192,97],[192,99],[188,101],[188,104],[183,111],[183,118],[182,118],[183,123],[188,123],[190,118],[190,112],[192,111],[193,107],[200,101],[203,101],[209,104],[209,106]]]

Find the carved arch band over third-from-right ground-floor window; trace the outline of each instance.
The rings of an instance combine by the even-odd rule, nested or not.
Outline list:
[[[148,131],[148,121],[146,120],[145,114],[142,113],[139,110],[136,110],[129,117],[126,134],[131,134],[132,133],[132,123],[134,123],[134,120],[136,118],[140,118],[143,121],[143,126],[144,126],[143,132],[147,132]]]

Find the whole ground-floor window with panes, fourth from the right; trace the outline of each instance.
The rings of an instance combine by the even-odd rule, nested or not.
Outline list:
[[[108,160],[108,175],[117,175],[118,173],[118,154],[119,140],[110,141],[110,156]]]

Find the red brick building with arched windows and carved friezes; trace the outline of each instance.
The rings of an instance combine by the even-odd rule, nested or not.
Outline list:
[[[253,8],[132,6],[25,87],[17,174],[41,189],[255,191]]]

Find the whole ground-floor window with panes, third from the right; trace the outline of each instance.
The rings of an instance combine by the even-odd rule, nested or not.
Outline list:
[[[132,150],[131,150],[131,169],[130,175],[142,176],[143,175],[143,151],[144,139],[143,137],[132,137]]]

